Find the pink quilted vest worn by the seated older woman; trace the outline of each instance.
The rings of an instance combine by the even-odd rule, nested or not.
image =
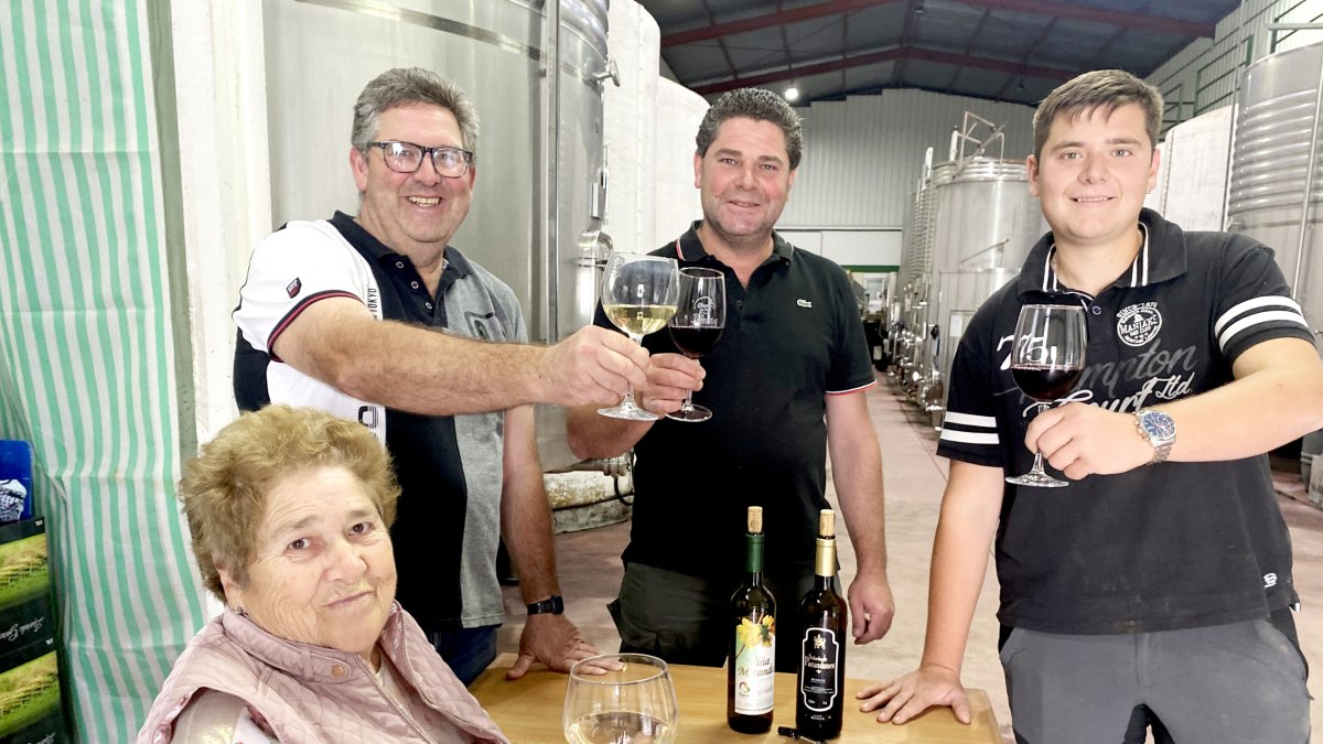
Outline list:
[[[438,744],[508,744],[397,602],[380,645],[400,671],[409,712]],[[373,679],[357,654],[277,638],[225,610],[189,641],[156,696],[138,744],[168,744],[173,721],[201,690],[245,700],[280,744],[429,741]]]

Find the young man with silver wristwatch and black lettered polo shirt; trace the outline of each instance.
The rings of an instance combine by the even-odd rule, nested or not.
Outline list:
[[[960,339],[927,642],[918,671],[860,694],[878,720],[968,720],[959,670],[995,535],[1017,741],[1121,741],[1146,708],[1176,741],[1308,739],[1265,453],[1323,426],[1323,365],[1271,250],[1140,209],[1162,110],[1119,70],[1039,106],[1031,191],[1052,232]],[[1088,367],[1035,414],[1008,356],[1020,307],[1048,302],[1085,307]],[[1004,482],[1035,450],[1068,487]]]

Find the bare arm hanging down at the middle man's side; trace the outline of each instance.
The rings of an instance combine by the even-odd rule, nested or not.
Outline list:
[[[852,633],[856,643],[868,643],[890,629],[896,602],[886,580],[882,455],[864,391],[827,396],[827,451],[857,561],[847,592]]]

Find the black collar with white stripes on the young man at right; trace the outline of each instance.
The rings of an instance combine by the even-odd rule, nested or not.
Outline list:
[[[1144,242],[1139,246],[1135,259],[1130,262],[1130,269],[1117,277],[1109,289],[1146,287],[1185,273],[1185,240],[1179,226],[1163,220],[1152,209],[1143,209],[1139,212],[1138,229]],[[1052,266],[1056,253],[1057,244],[1052,240],[1052,233],[1043,236],[1035,244],[1024,267],[1020,269],[1017,294],[1082,294],[1072,290],[1057,275]]]

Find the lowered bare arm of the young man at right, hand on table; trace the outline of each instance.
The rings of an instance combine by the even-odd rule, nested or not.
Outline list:
[[[919,667],[859,692],[860,710],[876,710],[878,721],[905,723],[933,706],[950,706],[960,723],[970,723],[960,667],[1000,516],[1003,477],[1000,467],[951,461],[933,541]]]

